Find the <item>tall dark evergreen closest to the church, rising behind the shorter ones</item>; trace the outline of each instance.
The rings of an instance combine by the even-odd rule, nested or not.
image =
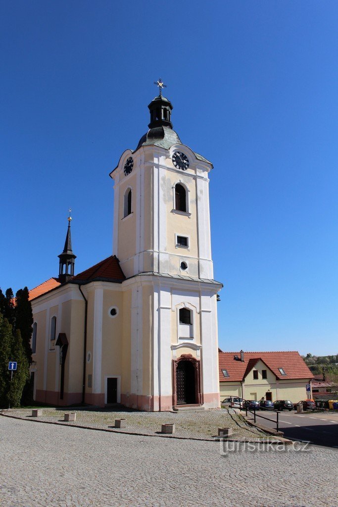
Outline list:
[[[15,297],[15,330],[20,330],[29,365],[32,363],[30,339],[33,331],[33,312],[28,288],[20,288]]]

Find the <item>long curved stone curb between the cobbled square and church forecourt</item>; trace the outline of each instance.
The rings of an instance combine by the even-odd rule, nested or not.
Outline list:
[[[29,421],[29,422],[40,422],[40,423],[43,423],[43,424],[56,424],[57,426],[67,426],[67,427],[72,427],[72,428],[82,428],[82,429],[92,429],[94,431],[105,431],[105,432],[108,432],[108,433],[118,433],[118,434],[125,434],[125,435],[136,435],[138,437],[158,437],[158,438],[164,438],[164,439],[175,439],[175,440],[194,440],[194,441],[197,441],[197,442],[217,442],[217,437],[215,438],[210,438],[210,439],[196,439],[194,437],[176,437],[174,435],[168,435],[168,434],[154,434],[154,435],[149,435],[147,433],[136,433],[136,432],[131,432],[131,431],[116,431],[115,429],[112,429],[112,428],[95,428],[94,426],[83,426],[83,425],[80,425],[80,424],[66,424],[64,422],[59,422],[59,421],[42,421],[42,420],[39,420],[39,419],[27,419],[27,418],[23,418],[23,417],[18,417],[18,416],[15,416],[15,415],[9,415],[9,414],[4,414],[4,412],[0,412],[0,415],[2,415],[3,417],[9,417],[10,419],[19,419],[20,421]],[[282,440],[272,440],[272,441],[264,441],[264,440],[236,440],[236,439],[225,439],[224,442],[238,442],[240,444],[247,444],[247,443],[251,443],[251,444],[280,444],[282,441],[284,441],[285,439],[282,439]],[[288,441],[291,443],[291,441]]]

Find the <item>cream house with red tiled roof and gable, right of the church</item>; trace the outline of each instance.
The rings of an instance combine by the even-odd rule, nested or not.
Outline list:
[[[312,397],[313,375],[298,352],[222,352],[219,349],[218,358],[221,401],[228,396],[240,396],[245,400],[296,403]]]

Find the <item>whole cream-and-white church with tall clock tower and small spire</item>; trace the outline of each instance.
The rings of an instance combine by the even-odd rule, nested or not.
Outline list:
[[[74,274],[69,216],[58,275],[30,291],[37,402],[144,411],[220,406],[213,166],[181,142],[157,84],[147,132],[110,172],[112,255]]]

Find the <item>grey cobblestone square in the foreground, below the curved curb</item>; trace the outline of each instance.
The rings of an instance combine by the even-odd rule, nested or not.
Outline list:
[[[0,417],[0,505],[338,507],[336,450],[236,445]]]

